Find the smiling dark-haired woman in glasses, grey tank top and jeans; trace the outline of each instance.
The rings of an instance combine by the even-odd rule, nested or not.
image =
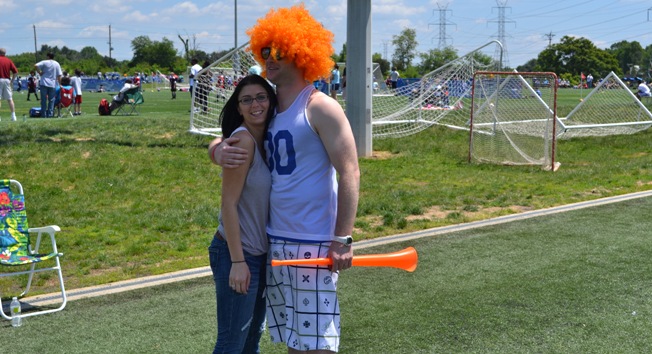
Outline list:
[[[222,171],[220,225],[209,247],[217,297],[217,343],[213,353],[258,353],[265,323],[265,271],[271,175],[263,139],[276,108],[272,86],[249,75],[220,113],[224,137],[240,138],[247,162]],[[221,139],[209,145],[211,160]]]

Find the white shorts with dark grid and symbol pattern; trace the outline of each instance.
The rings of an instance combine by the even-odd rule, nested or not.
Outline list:
[[[271,266],[271,259],[328,257],[329,246],[330,242],[307,244],[270,238],[267,326],[272,342],[285,342],[301,351],[338,351],[338,273],[323,266]]]

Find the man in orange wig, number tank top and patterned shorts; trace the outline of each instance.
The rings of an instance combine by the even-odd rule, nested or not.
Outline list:
[[[247,33],[278,97],[265,141],[272,172],[269,258],[332,260],[330,269],[269,267],[270,335],[274,342],[285,342],[289,353],[337,352],[337,279],[340,270],[351,267],[360,170],[342,107],[310,84],[328,77],[334,66],[333,34],[303,5],[271,10]],[[225,168],[241,164],[246,155],[227,146],[231,141],[212,151]]]

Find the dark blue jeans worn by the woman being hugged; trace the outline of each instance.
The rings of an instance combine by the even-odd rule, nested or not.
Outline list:
[[[265,273],[267,254],[245,253],[251,273],[247,294],[229,287],[231,256],[226,242],[213,237],[208,248],[217,299],[217,353],[260,353],[260,337],[265,329]]]

